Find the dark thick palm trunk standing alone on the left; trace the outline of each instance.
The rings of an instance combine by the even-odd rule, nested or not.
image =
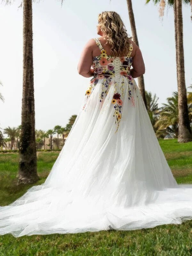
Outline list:
[[[39,180],[36,161],[32,0],[23,0],[23,95],[18,183]]]

